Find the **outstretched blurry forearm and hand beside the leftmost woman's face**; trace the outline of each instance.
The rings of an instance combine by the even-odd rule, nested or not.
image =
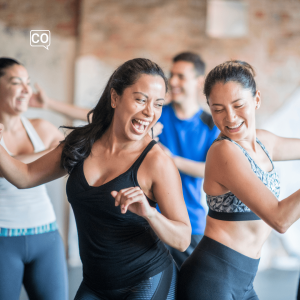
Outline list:
[[[37,84],[36,89],[37,93],[32,94],[29,101],[31,107],[50,109],[73,120],[87,121],[89,109],[51,99]]]

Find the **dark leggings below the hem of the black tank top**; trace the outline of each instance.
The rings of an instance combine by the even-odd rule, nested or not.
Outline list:
[[[176,300],[177,273],[173,263],[136,286],[101,292],[91,290],[83,281],[74,300]]]

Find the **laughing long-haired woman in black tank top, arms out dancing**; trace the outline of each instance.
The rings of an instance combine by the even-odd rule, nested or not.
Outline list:
[[[158,65],[133,59],[113,73],[89,124],[65,127],[73,131],[49,155],[28,167],[0,147],[0,171],[20,188],[70,174],[83,263],[76,300],[176,299],[164,243],[184,251],[191,226],[178,170],[148,135],[166,90]]]

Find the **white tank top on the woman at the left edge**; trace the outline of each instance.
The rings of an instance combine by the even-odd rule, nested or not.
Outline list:
[[[45,146],[29,120],[21,121],[34,147],[34,153],[45,150]],[[7,150],[3,138],[0,144]],[[30,189],[18,189],[0,177],[0,227],[33,228],[55,221],[55,213],[45,185]]]

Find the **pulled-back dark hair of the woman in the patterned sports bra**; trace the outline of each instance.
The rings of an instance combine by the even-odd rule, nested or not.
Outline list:
[[[231,60],[216,66],[205,78],[204,95],[207,103],[212,88],[218,82],[225,84],[226,82],[235,81],[244,89],[250,90],[254,97],[256,94],[254,76],[255,72],[253,67],[244,61]]]

